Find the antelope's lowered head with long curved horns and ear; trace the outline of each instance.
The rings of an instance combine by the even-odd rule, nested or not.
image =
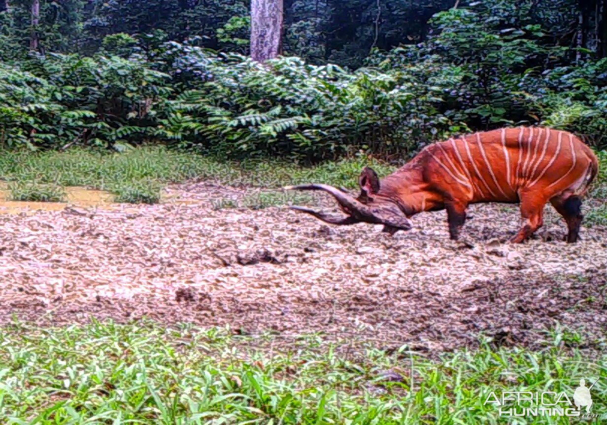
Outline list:
[[[410,230],[411,223],[407,219],[404,208],[389,193],[380,191],[379,177],[373,169],[365,167],[359,177],[361,194],[354,198],[343,189],[329,185],[297,185],[287,186],[285,190],[297,191],[325,191],[337,201],[339,208],[347,214],[346,217],[335,216],[314,211],[303,206],[291,206],[291,209],[310,214],[324,221],[336,225],[351,225],[355,223],[383,224],[384,232],[395,234],[399,230]]]

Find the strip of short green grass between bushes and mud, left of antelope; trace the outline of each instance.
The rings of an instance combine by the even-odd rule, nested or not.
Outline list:
[[[380,175],[393,170],[365,158],[305,168],[283,161],[234,163],[162,146],[148,146],[121,154],[75,148],[67,152],[2,151],[0,177],[19,185],[87,186],[114,193],[117,202],[155,203],[168,183],[194,177],[225,185],[266,188],[307,182],[355,188],[362,167],[369,164],[375,166]],[[263,195],[251,202],[276,205],[280,199],[286,199],[285,195]]]

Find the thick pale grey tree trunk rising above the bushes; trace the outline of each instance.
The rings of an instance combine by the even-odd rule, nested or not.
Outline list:
[[[251,0],[251,58],[274,59],[282,50],[283,0]]]

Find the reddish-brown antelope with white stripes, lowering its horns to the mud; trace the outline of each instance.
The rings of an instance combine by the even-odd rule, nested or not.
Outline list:
[[[384,232],[409,230],[409,217],[447,209],[451,239],[457,239],[471,203],[520,203],[520,243],[543,225],[544,205],[552,203],[568,226],[567,242],[578,238],[582,197],[599,161],[575,135],[542,127],[518,127],[467,135],[431,144],[381,182],[371,168],[359,177],[358,198],[328,185],[284,189],[330,193],[347,217],[293,206],[336,225],[376,223]]]

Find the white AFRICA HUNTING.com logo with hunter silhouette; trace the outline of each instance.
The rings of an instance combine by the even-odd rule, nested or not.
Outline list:
[[[599,381],[597,378],[591,386],[586,387],[585,379],[580,379],[580,386],[569,398],[566,392],[554,391],[505,391],[498,396],[490,392],[484,404],[498,407],[498,413],[504,417],[580,417],[598,418],[598,413],[591,413],[592,395],[590,390]]]

